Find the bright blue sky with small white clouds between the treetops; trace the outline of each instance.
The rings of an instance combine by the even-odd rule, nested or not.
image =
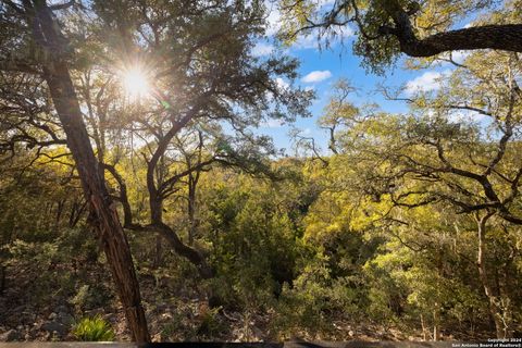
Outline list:
[[[269,16],[271,25],[268,30],[269,37],[266,40],[258,42],[253,49],[254,54],[263,57],[275,52],[273,35],[277,29],[278,22],[279,16],[276,11],[273,11]],[[316,99],[310,108],[313,116],[311,119],[299,119],[294,126],[302,129],[307,136],[313,137],[323,151],[326,150],[326,133],[318,127],[316,122],[328,101],[332,85],[339,78],[348,78],[359,89],[357,94],[351,96],[353,103],[360,105],[365,102],[376,102],[383,111],[406,112],[408,107],[405,102],[386,100],[377,92],[377,86],[405,86],[407,94],[413,94],[415,90],[436,90],[438,78],[449,72],[449,66],[444,64],[427,70],[407,70],[403,67],[403,60],[399,60],[395,69],[388,70],[385,76],[374,75],[365,71],[361,66],[361,59],[352,53],[353,30],[347,27],[339,34],[339,38],[332,42],[330,48],[321,49],[316,35],[310,35],[300,37],[291,47],[282,49],[285,53],[298,58],[301,62],[299,67],[300,78],[295,82],[295,85],[313,88],[316,94]],[[461,57],[456,58],[456,60],[460,59]],[[288,82],[282,83],[286,84]],[[285,148],[286,153],[291,154],[289,129],[289,125],[270,122],[259,130],[272,136],[276,147]]]

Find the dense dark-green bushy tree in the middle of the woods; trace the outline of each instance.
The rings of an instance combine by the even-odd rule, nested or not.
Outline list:
[[[225,303],[266,307],[294,277],[299,246],[289,217],[274,207],[274,191],[241,178],[240,190],[219,188],[210,199],[217,278]]]

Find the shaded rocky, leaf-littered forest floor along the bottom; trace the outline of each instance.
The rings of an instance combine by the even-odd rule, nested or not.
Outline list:
[[[109,300],[98,299],[98,303],[85,298],[78,300],[78,295],[74,299],[71,294],[67,296],[63,288],[71,286],[72,278],[78,276],[74,272],[60,264],[50,265],[46,272],[32,262],[12,266],[7,273],[5,289],[0,295],[0,341],[75,340],[71,333],[75,321],[95,315],[111,324],[116,340],[129,340],[123,309],[113,294]],[[83,270],[79,276],[87,283],[107,283],[110,287],[110,277],[100,264]],[[247,315],[210,309],[207,299],[197,291],[179,291],[187,286],[182,285],[177,290],[166,288],[165,291],[161,289],[161,279],[142,274],[140,283],[153,341],[422,340],[420,333],[405,335],[399,330],[341,321],[332,322],[333,330],[327,335],[297,332],[282,337],[274,333],[270,314]],[[104,304],[99,306],[100,302]],[[451,336],[444,338],[452,339]]]

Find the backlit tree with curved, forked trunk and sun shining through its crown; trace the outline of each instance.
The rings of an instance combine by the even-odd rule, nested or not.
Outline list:
[[[128,129],[129,136],[136,135],[146,142],[139,156],[147,166],[148,223],[133,220],[130,204],[122,189],[124,177],[116,173],[115,163],[105,163],[120,186],[124,226],[161,234],[177,253],[198,266],[203,277],[210,277],[212,272],[201,252],[185,245],[176,231],[165,223],[165,201],[183,179],[192,177],[194,185],[194,175],[208,170],[212,163],[240,166],[246,171],[260,170],[261,166],[256,165],[263,161],[260,154],[263,151],[270,154],[273,150],[268,139],[253,136],[249,127],[256,127],[268,117],[290,121],[297,114],[307,114],[310,92],[284,88],[274,79],[277,75],[294,79],[295,60],[252,57],[252,40],[264,26],[263,8],[257,2],[216,1],[210,8],[198,3],[189,7],[186,3],[156,3],[145,11],[144,3],[135,1],[125,2],[122,11],[126,14],[112,13],[112,5],[100,2],[97,11],[103,20],[104,33],[112,33],[123,47],[108,45],[108,53],[102,55],[105,60],[117,61],[122,51],[132,52],[128,58],[132,66],[148,66],[149,84],[157,99],[144,99],[132,108],[115,105],[119,113],[132,115],[121,126]],[[120,17],[122,15],[125,21]],[[165,33],[177,30],[183,35],[173,42]],[[103,96],[104,91],[100,89],[100,92]],[[229,123],[234,136],[222,130],[220,123],[223,121]],[[184,129],[201,130],[199,140],[208,136],[210,140],[206,139],[204,144],[212,147],[204,151],[198,164],[187,163],[186,169],[179,170],[174,164],[179,157],[185,157],[186,161],[187,153],[183,152],[190,148],[190,144],[178,144],[191,133],[184,134]],[[199,141],[194,137],[189,140]],[[128,156],[136,152],[126,151]]]

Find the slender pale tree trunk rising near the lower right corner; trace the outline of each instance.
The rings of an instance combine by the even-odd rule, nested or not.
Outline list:
[[[492,213],[487,213],[486,215],[482,216],[481,219],[476,219],[477,222],[477,239],[478,239],[478,248],[476,253],[476,266],[478,270],[478,276],[484,288],[484,294],[488,300],[488,308],[489,314],[495,323],[495,331],[497,334],[497,338],[505,338],[506,337],[506,327],[501,320],[502,311],[498,307],[497,297],[493,294],[493,289],[489,286],[489,279],[487,277],[487,270],[486,264],[484,262],[484,253],[485,253],[485,235],[486,235],[486,223],[487,220],[493,216]]]

